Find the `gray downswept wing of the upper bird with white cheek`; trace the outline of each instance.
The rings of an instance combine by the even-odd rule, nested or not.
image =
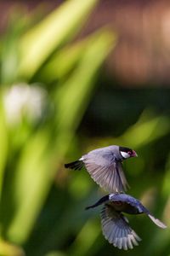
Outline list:
[[[107,155],[95,159],[88,157],[83,162],[96,183],[109,193],[123,192],[127,190],[127,179],[122,171],[122,163],[116,160],[108,160]]]

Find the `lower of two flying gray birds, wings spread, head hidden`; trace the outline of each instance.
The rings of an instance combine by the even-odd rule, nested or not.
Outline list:
[[[119,249],[133,249],[133,246],[137,246],[138,241],[141,241],[122,212],[129,214],[145,213],[158,227],[161,229],[167,228],[161,220],[155,218],[139,200],[131,195],[105,195],[97,203],[86,209],[98,207],[101,204],[105,205],[100,214],[103,235],[106,240]]]

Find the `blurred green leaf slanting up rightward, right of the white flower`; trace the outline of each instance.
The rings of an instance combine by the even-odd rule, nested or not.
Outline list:
[[[99,33],[83,51],[78,67],[71,77],[59,87],[56,102],[57,148],[65,152],[82,119],[94,90],[94,79],[99,67],[115,43],[111,32]],[[59,146],[60,145],[60,146]]]

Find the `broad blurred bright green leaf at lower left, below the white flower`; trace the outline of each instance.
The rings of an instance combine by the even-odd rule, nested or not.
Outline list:
[[[13,191],[10,201],[14,201],[17,206],[14,212],[8,212],[8,202],[4,203],[9,220],[6,231],[3,232],[10,241],[17,243],[26,241],[37,213],[42,207],[42,199],[47,195],[51,182],[47,147],[48,136],[44,132],[32,136],[23,148],[18,166],[13,170],[14,174],[11,176],[13,183],[8,180],[8,186],[12,186]]]

